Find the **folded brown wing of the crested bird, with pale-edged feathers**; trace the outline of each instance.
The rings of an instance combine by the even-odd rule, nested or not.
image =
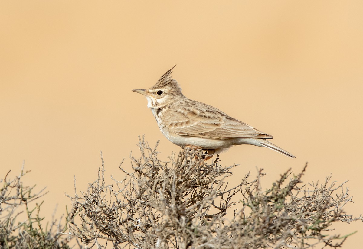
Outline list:
[[[196,106],[175,108],[164,113],[162,119],[171,132],[180,136],[214,139],[272,138],[271,135],[233,119],[209,105],[205,105],[204,108]]]

